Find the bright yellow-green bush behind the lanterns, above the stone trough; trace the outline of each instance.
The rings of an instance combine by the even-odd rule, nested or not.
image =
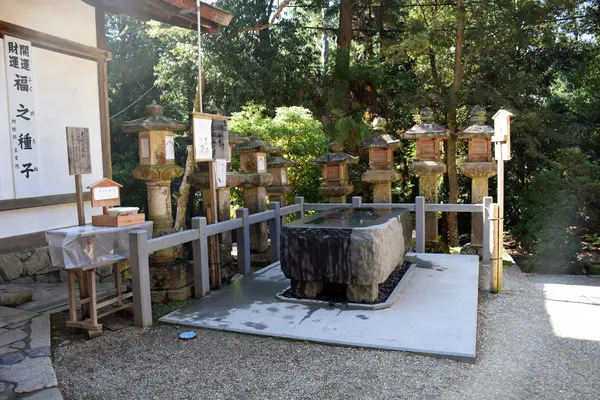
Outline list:
[[[327,151],[327,136],[312,113],[303,107],[278,107],[273,118],[264,105],[249,103],[233,113],[231,130],[242,135],[259,135],[274,146],[283,148],[283,156],[296,162],[290,169],[293,196],[304,196],[307,202],[322,202],[319,195],[321,168],[311,161]],[[291,199],[290,199],[291,200]]]

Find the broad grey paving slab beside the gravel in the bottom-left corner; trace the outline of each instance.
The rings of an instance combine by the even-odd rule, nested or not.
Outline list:
[[[56,387],[50,357],[26,358],[18,364],[0,367],[2,379],[16,384],[15,393],[29,393]]]

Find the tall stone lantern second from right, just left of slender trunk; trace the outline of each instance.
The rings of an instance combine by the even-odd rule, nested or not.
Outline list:
[[[431,108],[423,108],[420,114],[421,123],[410,128],[402,137],[417,142],[417,160],[412,163],[412,169],[419,175],[419,195],[425,197],[426,203],[437,203],[439,177],[446,172],[446,165],[440,160],[440,143],[449,137],[450,132],[434,123]],[[443,250],[438,241],[437,213],[425,214],[425,244],[429,251]]]

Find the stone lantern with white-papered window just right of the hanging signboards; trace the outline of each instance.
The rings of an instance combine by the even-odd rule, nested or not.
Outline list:
[[[280,151],[258,136],[250,136],[246,143],[232,149],[240,155],[240,169],[243,175],[244,207],[250,214],[267,210],[267,189],[273,183],[273,175],[267,172],[267,154]],[[264,222],[250,227],[250,249],[255,253],[264,253],[269,249],[267,224]]]

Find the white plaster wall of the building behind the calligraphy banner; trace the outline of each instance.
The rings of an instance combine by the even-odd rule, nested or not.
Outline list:
[[[81,0],[0,0],[0,20],[59,36],[88,46],[96,45],[94,8]],[[0,39],[0,49],[3,49]],[[3,52],[3,51],[2,51]],[[0,53],[2,53],[0,52]],[[74,193],[69,175],[67,126],[90,130],[92,174],[83,176],[84,190],[102,178],[102,148],[97,65],[64,54],[32,48],[39,163],[42,175],[38,196]],[[10,136],[4,71],[0,55],[0,200],[14,198],[10,165]],[[86,217],[101,213],[86,204]],[[77,224],[75,204],[0,212],[0,238]]]

